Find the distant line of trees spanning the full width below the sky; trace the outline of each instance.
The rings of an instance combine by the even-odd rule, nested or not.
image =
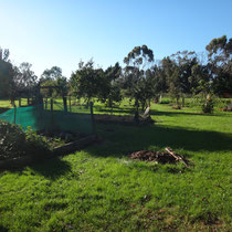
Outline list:
[[[21,94],[32,96],[38,85],[59,86],[53,91],[44,88],[44,97],[62,96],[65,102],[66,95],[72,94],[84,98],[87,105],[95,98],[113,107],[128,97],[136,112],[166,93],[177,105],[184,104],[187,95],[232,95],[232,38],[225,35],[213,39],[202,54],[179,51],[159,63],[147,45],[135,46],[124,59],[124,67],[116,63],[103,70],[96,68],[93,60],[81,61],[68,80],[57,66],[45,70],[39,78],[31,64],[15,66],[9,55],[9,50],[0,49],[0,97],[9,97],[12,103]]]

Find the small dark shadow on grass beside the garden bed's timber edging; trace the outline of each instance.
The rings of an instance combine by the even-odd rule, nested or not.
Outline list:
[[[30,168],[51,180],[55,180],[71,171],[70,164],[60,158],[46,159],[39,164],[31,165]]]

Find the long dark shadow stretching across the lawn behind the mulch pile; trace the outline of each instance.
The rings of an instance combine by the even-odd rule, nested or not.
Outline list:
[[[232,135],[215,131],[189,130],[180,127],[97,125],[103,143],[86,150],[93,156],[122,157],[136,150],[229,151],[232,150]],[[187,155],[188,154],[183,154]]]

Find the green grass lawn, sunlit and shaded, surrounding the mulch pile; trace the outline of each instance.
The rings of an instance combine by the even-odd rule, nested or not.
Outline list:
[[[108,110],[95,104],[96,113]],[[117,108],[130,112],[127,102]],[[99,124],[98,144],[0,172],[0,231],[230,231],[232,113],[200,112],[152,105],[154,125]],[[167,146],[194,165],[127,156]]]

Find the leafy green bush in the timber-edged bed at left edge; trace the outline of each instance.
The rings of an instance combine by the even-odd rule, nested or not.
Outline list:
[[[22,156],[43,156],[50,152],[46,139],[31,128],[0,120],[0,159]]]

